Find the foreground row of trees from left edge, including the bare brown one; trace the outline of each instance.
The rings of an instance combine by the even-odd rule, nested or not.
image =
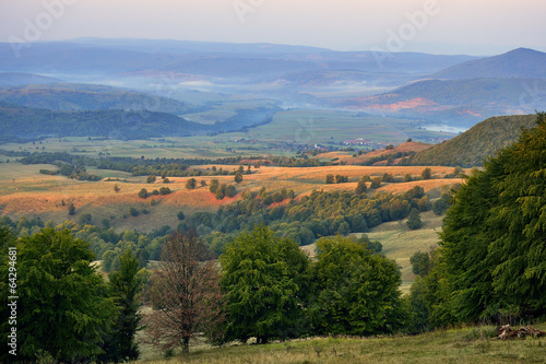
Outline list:
[[[2,253],[17,250],[17,359],[23,361],[135,360],[135,333],[143,327],[154,345],[188,352],[198,334],[224,344],[393,333],[406,316],[395,262],[366,242],[341,236],[321,239],[311,260],[295,242],[257,225],[227,245],[218,267],[194,232],[177,233],[150,277],[124,250],[106,281],[92,265],[90,244],[68,230],[44,228],[15,239],[0,226],[0,235]],[[0,257],[0,293],[7,298],[8,255]],[[152,312],[139,313],[142,300]],[[9,310],[0,307],[2,334],[10,331],[3,319]]]

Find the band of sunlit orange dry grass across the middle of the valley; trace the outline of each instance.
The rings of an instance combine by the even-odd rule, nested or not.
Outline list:
[[[219,167],[219,166],[218,166]],[[235,198],[216,200],[209,191],[209,187],[198,187],[194,190],[185,188],[188,177],[169,178],[171,184],[165,185],[158,179],[150,185],[145,177],[133,177],[130,174],[112,171],[91,171],[110,178],[119,178],[120,181],[76,181],[62,176],[40,175],[40,168],[51,168],[49,165],[21,165],[17,163],[0,164],[0,211],[11,218],[17,219],[22,214],[35,214],[44,221],[52,220],[61,223],[69,219],[69,203],[76,208],[76,214],[71,219],[78,219],[81,213],[91,213],[94,223],[109,219],[110,224],[117,231],[138,230],[151,232],[165,224],[176,226],[178,220],[176,214],[183,211],[191,214],[195,211],[215,211],[219,206],[232,203],[240,198],[242,190],[259,190],[265,187],[268,191],[274,192],[282,188],[293,189],[297,195],[310,193],[313,189],[324,191],[354,190],[356,181],[363,175],[381,176],[384,173],[393,174],[401,179],[405,174],[419,176],[423,167],[366,167],[366,166],[328,166],[314,168],[288,168],[288,167],[261,167],[252,168],[251,175],[244,175],[241,184],[236,185],[238,195]],[[201,168],[212,168],[202,166]],[[223,166],[224,169],[233,171],[237,166]],[[450,173],[450,167],[431,167],[436,176]],[[341,174],[349,177],[349,183],[340,185],[325,185],[328,174]],[[124,179],[127,181],[124,181]],[[209,185],[212,179],[218,179],[221,184],[235,184],[234,176],[204,176],[197,177],[200,186],[201,179]],[[443,184],[452,184],[456,180],[432,179],[427,181],[413,181],[407,184],[388,184],[380,190],[389,192],[401,192],[408,190],[415,185],[423,186],[429,191],[437,189]],[[114,185],[121,190],[116,193]],[[155,196],[156,206],[150,206],[152,197],[140,199],[136,195],[145,188],[151,192],[168,186],[174,192],[168,196]],[[64,202],[64,206],[62,206]],[[129,208],[146,209],[149,214],[136,218],[129,216]]]

